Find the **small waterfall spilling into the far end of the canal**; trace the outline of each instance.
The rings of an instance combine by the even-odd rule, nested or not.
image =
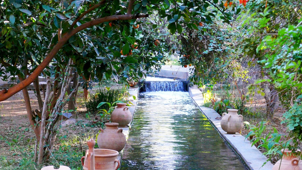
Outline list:
[[[185,81],[147,77],[147,79],[144,81],[144,86],[141,91],[187,91],[186,89],[187,83]]]

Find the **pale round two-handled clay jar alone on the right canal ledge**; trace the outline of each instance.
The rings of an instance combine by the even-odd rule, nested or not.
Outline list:
[[[221,128],[226,131],[227,134],[235,134],[242,129],[243,116],[238,115],[237,109],[228,109],[228,113],[222,113],[220,121]]]

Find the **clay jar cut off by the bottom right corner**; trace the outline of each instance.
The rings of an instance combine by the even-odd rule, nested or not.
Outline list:
[[[275,163],[272,170],[302,170],[302,160],[298,159],[297,155],[292,154],[288,149],[281,149],[281,152],[282,159]]]

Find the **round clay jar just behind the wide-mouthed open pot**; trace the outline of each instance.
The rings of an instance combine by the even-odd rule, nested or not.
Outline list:
[[[126,136],[123,129],[118,129],[118,123],[105,123],[106,129],[100,128],[98,134],[98,148],[113,149],[118,152],[124,149],[126,145]]]

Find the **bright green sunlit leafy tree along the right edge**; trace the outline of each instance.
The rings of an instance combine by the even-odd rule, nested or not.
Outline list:
[[[295,90],[296,85],[293,85],[300,80],[286,76],[290,73],[291,75],[298,74],[297,70],[283,70],[287,68],[283,62],[285,58],[291,58],[287,64],[297,63],[297,59],[293,57],[296,52],[289,47],[292,45],[291,38],[289,37],[285,44],[278,42],[278,39],[283,39],[289,32],[297,30],[301,15],[300,1],[254,0],[246,4],[246,10],[238,17],[242,21],[243,29],[241,29],[242,38],[240,38],[236,50],[244,57],[247,56],[249,66],[260,68],[255,74],[256,78],[260,80],[252,84],[251,89],[258,87],[258,93],[264,96],[268,118],[273,117],[274,109],[278,105],[278,98],[283,106],[291,107],[294,99],[300,93],[299,90]],[[296,28],[291,30],[291,27]],[[288,30],[284,33],[283,29],[286,28]],[[274,41],[270,41],[270,38]],[[272,48],[273,46],[275,48]],[[277,55],[277,53],[279,54]],[[280,55],[283,55],[284,58]],[[279,58],[277,59],[276,56]],[[282,69],[276,69],[279,67]]]

